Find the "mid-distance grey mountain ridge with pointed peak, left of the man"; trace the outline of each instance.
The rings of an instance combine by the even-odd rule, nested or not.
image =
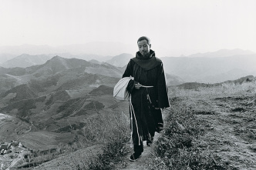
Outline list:
[[[66,72],[66,75],[62,75],[64,72]],[[68,79],[69,76],[70,78],[74,78],[72,75],[82,73],[113,78],[120,78],[122,76],[121,68],[116,68],[113,65],[98,65],[86,62],[82,59],[55,56],[43,65],[33,65],[27,68],[0,68],[0,92],[4,92],[6,89],[11,89],[15,85],[28,83],[32,80],[42,82],[45,78],[49,79],[49,76],[51,77],[50,79],[59,79],[62,77],[64,78],[62,82],[65,82],[65,77]],[[50,84],[50,82],[52,81],[48,80],[47,83]]]

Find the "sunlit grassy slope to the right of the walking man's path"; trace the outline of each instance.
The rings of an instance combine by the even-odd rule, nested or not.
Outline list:
[[[171,89],[152,169],[255,169],[255,83]]]

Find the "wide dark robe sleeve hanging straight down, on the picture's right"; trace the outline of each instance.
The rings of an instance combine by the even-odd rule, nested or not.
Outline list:
[[[166,76],[163,71],[163,63],[160,65],[157,78],[157,102],[158,108],[168,108],[170,107],[168,98],[168,86]]]

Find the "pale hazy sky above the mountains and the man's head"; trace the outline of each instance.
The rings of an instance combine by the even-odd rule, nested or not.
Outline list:
[[[123,42],[166,55],[256,52],[254,0],[0,0],[0,46]],[[100,50],[100,49],[99,49]]]

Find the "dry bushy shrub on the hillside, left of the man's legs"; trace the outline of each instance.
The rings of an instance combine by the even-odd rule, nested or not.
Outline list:
[[[127,154],[130,139],[129,118],[123,113],[103,113],[87,120],[83,128],[86,142],[103,142],[103,152],[89,161],[89,169],[113,169]],[[77,169],[86,169],[77,167]]]

